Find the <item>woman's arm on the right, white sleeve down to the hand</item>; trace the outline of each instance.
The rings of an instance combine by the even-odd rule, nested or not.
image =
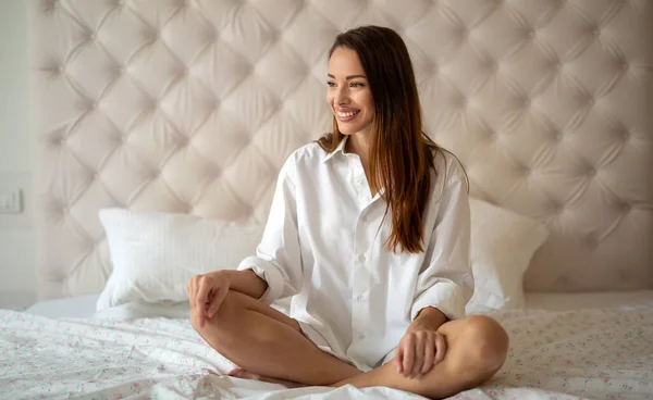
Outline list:
[[[412,322],[395,353],[397,372],[405,377],[422,376],[444,359],[447,345],[438,329],[449,320],[464,317],[465,303],[471,298],[469,199],[463,168],[453,164],[439,199],[427,265],[418,277]]]

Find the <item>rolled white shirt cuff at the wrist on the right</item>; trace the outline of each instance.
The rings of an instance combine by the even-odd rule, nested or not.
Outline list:
[[[439,282],[424,291],[412,303],[410,321],[427,307],[440,310],[449,321],[465,317],[465,295],[463,288],[452,282]]]

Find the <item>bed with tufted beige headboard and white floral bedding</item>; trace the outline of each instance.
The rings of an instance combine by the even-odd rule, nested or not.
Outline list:
[[[264,223],[285,158],[330,127],[326,51],[362,24],[406,40],[475,201],[522,218],[505,234],[546,228],[498,274],[515,295],[477,310],[508,332],[505,365],[455,398],[653,398],[652,2],[28,4],[40,302],[0,311],[0,398],[411,398],[232,378],[187,303],[106,299],[100,210]]]

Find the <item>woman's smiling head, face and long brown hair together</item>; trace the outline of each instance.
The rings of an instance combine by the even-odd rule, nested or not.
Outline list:
[[[383,188],[386,210],[394,210],[389,248],[422,250],[421,216],[439,148],[422,132],[408,49],[394,30],[367,26],[338,35],[329,54],[333,133],[318,142],[331,152],[347,136],[346,150],[360,157],[372,192]]]

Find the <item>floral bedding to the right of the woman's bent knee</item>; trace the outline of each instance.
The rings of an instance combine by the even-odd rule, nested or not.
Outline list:
[[[477,392],[491,399],[653,399],[653,307],[493,316],[508,332],[510,348],[503,368]],[[522,388],[549,392],[532,397]],[[475,396],[456,399],[483,398]]]

